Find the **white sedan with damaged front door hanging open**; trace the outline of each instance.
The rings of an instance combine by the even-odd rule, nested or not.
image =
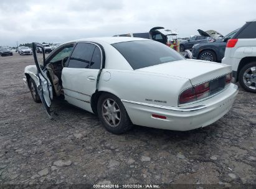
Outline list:
[[[57,47],[24,80],[36,102],[58,96],[95,113],[103,126],[120,134],[133,124],[176,131],[205,127],[222,118],[238,93],[229,65],[186,60],[159,42],[131,37],[80,39]]]

